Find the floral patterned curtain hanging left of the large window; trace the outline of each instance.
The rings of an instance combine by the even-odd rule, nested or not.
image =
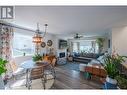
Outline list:
[[[10,60],[12,57],[13,28],[0,25],[0,57]]]

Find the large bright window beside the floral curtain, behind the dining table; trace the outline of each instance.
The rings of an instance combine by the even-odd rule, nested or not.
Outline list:
[[[32,36],[15,32],[13,38],[13,56],[32,55],[33,53]]]

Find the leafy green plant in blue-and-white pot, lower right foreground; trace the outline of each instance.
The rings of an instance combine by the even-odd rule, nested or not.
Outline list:
[[[107,72],[107,77],[106,77],[106,83],[105,83],[105,88],[107,89],[116,89],[117,88],[117,80],[115,79],[116,76],[119,75],[119,70],[118,70],[118,64],[122,63],[125,61],[126,56],[119,56],[117,55],[112,55],[112,56],[107,56],[105,61],[105,70]]]

